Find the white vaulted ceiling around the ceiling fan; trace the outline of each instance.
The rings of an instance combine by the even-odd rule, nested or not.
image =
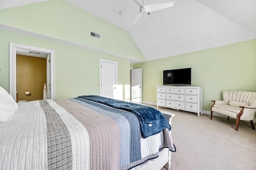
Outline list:
[[[42,1],[0,0],[0,9]],[[145,0],[174,7],[144,14],[135,25],[132,0],[65,1],[127,30],[147,61],[256,38],[256,0]]]

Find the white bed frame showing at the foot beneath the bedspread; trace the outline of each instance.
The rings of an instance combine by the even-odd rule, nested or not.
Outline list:
[[[162,112],[164,113],[164,112]],[[166,115],[171,115],[169,119],[169,124],[172,125],[172,118],[175,116],[174,113],[164,113]],[[154,159],[153,161],[145,162],[140,166],[132,168],[132,170],[160,170],[161,168],[165,167],[167,170],[171,169],[171,151],[168,148],[163,148],[159,152],[158,158]]]

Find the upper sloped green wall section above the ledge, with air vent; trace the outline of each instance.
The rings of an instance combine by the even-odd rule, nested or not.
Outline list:
[[[146,61],[126,30],[63,0],[0,10],[0,24]]]

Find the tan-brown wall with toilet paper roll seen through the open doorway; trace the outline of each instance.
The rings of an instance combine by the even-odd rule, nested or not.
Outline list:
[[[34,101],[43,99],[44,83],[46,83],[46,58],[16,56],[16,91],[19,100]],[[30,91],[30,95],[25,95]]]

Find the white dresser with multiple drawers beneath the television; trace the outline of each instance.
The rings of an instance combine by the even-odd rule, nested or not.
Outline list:
[[[193,86],[157,86],[158,106],[169,107],[202,114],[202,91],[203,87]]]

